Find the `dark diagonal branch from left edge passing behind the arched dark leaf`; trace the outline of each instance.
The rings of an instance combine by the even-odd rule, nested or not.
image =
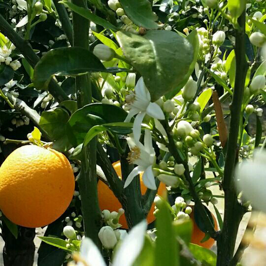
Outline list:
[[[25,59],[34,68],[39,62],[39,57],[34,53],[29,43],[16,33],[8,22],[0,15],[0,31],[18,48]],[[52,79],[49,84],[49,92],[59,102],[69,100],[63,89]]]

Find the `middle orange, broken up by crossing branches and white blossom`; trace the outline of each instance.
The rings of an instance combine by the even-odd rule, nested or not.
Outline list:
[[[122,179],[122,172],[121,172],[121,165],[120,162],[115,162],[113,163],[113,167],[120,179]],[[142,182],[142,174],[140,176],[140,189],[141,189],[141,194],[144,195],[147,188]],[[158,188],[158,195],[162,195],[164,191],[166,190],[166,185],[161,182],[159,188]],[[110,212],[112,211],[117,211],[118,209],[122,208],[121,203],[119,200],[114,196],[113,192],[108,188],[106,184],[104,184],[101,180],[98,181],[98,197],[99,197],[99,205],[101,210],[109,210]],[[149,223],[153,222],[155,220],[155,217],[153,215],[154,212],[154,203],[152,203],[150,212],[148,213],[146,220]],[[119,223],[122,225],[122,228],[128,229],[128,223],[126,221],[126,216],[123,214],[120,219]]]

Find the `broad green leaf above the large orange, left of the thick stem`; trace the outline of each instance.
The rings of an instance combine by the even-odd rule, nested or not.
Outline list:
[[[59,139],[66,132],[69,115],[63,108],[55,108],[41,113],[39,126],[48,133],[52,140]]]

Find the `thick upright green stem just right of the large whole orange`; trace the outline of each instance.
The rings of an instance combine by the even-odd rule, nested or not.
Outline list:
[[[73,0],[77,6],[85,7],[83,0]],[[89,48],[90,22],[73,12],[73,43],[74,46]],[[88,74],[77,76],[76,94],[78,108],[92,102],[91,80]],[[101,250],[98,237],[102,225],[97,191],[97,139],[94,138],[88,146],[83,148],[81,170],[78,177],[78,187],[81,197],[84,232]]]

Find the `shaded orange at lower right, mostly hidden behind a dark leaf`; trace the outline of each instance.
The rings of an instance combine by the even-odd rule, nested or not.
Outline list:
[[[200,242],[204,238],[205,233],[203,233],[199,229],[198,225],[196,224],[195,219],[194,219],[194,208],[193,208],[194,206],[191,206],[191,207],[192,207],[192,213],[190,214],[190,218],[193,221],[193,232],[192,232],[192,236],[191,236],[191,243],[197,244],[201,247],[211,248],[215,242],[215,240],[213,238],[209,238],[207,241],[202,242],[202,243]],[[217,231],[218,225],[217,225],[216,218],[214,217],[213,214],[211,214],[211,216],[212,216],[213,221],[214,221],[214,228]]]

